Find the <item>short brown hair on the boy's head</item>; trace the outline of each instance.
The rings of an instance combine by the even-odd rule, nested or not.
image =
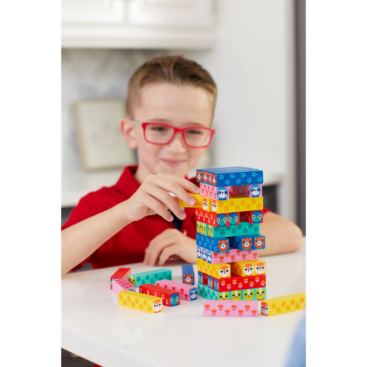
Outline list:
[[[212,76],[195,61],[182,56],[163,56],[146,61],[135,70],[127,86],[126,115],[134,118],[133,107],[142,88],[150,83],[170,83],[203,88],[213,97],[213,114],[217,100],[217,85]]]

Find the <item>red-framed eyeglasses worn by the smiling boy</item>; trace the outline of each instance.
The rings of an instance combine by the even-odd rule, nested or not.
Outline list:
[[[206,148],[212,142],[215,134],[215,129],[210,127],[189,126],[178,128],[157,122],[140,122],[135,120],[133,122],[143,127],[145,141],[158,145],[169,144],[176,133],[179,132],[188,147]]]

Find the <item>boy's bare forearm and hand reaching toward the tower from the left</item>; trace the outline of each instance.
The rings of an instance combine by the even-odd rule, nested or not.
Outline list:
[[[154,214],[171,222],[173,217],[167,209],[184,219],[186,214],[179,207],[178,200],[189,205],[195,204],[195,199],[187,191],[198,193],[199,188],[185,178],[165,174],[149,175],[129,199],[62,230],[61,276],[131,222]]]

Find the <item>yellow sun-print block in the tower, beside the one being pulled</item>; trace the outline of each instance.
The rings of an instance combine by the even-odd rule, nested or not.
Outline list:
[[[212,200],[212,212],[233,213],[263,209],[263,197],[249,198],[242,195],[231,195],[228,200]]]

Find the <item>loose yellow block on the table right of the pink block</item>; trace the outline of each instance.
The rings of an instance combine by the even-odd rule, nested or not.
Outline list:
[[[294,293],[261,301],[261,314],[275,316],[281,313],[297,311],[305,307],[306,295],[304,293]]]

